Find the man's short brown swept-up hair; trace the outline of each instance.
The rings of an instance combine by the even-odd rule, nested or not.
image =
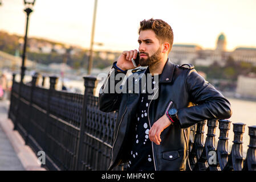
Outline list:
[[[170,49],[172,49],[173,44],[173,31],[172,27],[168,23],[166,23],[164,20],[161,19],[149,19],[149,20],[143,20],[140,22],[140,31],[142,30],[153,30],[156,34],[157,39],[161,43],[163,42],[169,42],[170,43]],[[170,49],[168,53],[170,52]]]

